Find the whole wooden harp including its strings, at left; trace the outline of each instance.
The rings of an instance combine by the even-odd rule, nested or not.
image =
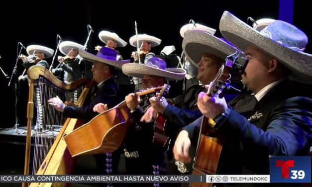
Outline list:
[[[72,132],[75,127],[84,123],[81,119],[65,118],[62,112],[55,110],[47,103],[49,98],[59,96],[65,100],[65,93],[76,92],[83,87],[76,106],[83,106],[91,80],[80,79],[71,84],[58,80],[42,66],[32,66],[27,72],[29,78],[29,95],[27,103],[27,136],[25,151],[24,175],[66,175],[70,174],[74,160],[67,150],[63,136]],[[35,89],[34,89],[35,88]],[[35,94],[35,95],[34,95]],[[34,118],[34,101],[37,105],[36,123],[32,130]],[[57,132],[59,131],[59,132]],[[32,143],[32,144],[31,144]],[[31,145],[34,151],[31,152]],[[30,158],[32,167],[30,168]],[[31,169],[31,171],[30,171]],[[27,187],[28,184],[23,184]],[[32,183],[30,187],[66,186],[66,184]]]

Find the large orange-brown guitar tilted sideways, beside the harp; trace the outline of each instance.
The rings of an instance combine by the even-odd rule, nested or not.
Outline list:
[[[146,95],[165,90],[167,85],[137,92],[135,95]],[[94,117],[91,121],[64,136],[72,157],[112,153],[116,151],[127,132],[134,123],[130,109],[124,101]]]

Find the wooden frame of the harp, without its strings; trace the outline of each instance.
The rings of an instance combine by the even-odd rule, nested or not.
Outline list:
[[[87,85],[82,91],[79,99],[77,100],[77,106],[83,106],[86,96],[92,85],[89,79],[80,79],[71,84],[66,84],[58,80],[51,72],[42,66],[32,66],[28,69],[27,75],[30,79],[29,96],[27,104],[27,136],[26,136],[26,153],[25,153],[25,168],[24,175],[29,173],[29,157],[30,157],[30,143],[31,143],[31,124],[33,118],[33,83],[34,80],[39,79],[39,76],[43,76],[50,83],[64,90],[74,90],[81,85]],[[72,132],[74,128],[83,124],[83,120],[67,118],[61,131],[57,135],[51,149],[46,155],[43,163],[40,165],[36,175],[68,175],[72,173],[74,159],[71,158],[64,141],[64,135]],[[23,187],[27,187],[28,184],[23,183]],[[31,183],[30,187],[66,187],[65,183]]]

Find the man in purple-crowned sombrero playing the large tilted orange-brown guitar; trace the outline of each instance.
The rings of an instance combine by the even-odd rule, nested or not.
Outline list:
[[[165,81],[182,80],[186,73],[180,68],[167,68],[166,62],[157,57],[150,58],[146,64],[125,64],[122,66],[122,72],[128,76],[141,78],[144,90],[163,86]],[[153,144],[153,123],[140,122],[144,110],[150,105],[148,96],[141,100],[139,96],[128,94],[125,101],[136,120],[136,124],[129,127],[124,140],[126,173],[165,174],[167,148]]]

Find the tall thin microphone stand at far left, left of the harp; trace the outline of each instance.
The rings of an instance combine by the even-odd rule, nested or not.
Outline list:
[[[19,45],[19,43],[17,44],[17,51],[18,51],[18,45]],[[17,74],[17,61],[18,61],[18,57],[22,51],[22,48],[23,48],[23,46],[20,47],[20,50],[19,50],[17,58],[16,58],[15,66],[14,66],[12,74],[11,74],[10,81],[7,85],[8,87],[10,86],[11,81],[13,80],[13,76],[14,76],[14,95],[15,95],[15,125],[14,125],[15,131],[14,131],[14,133],[16,132],[17,134],[19,134],[20,132],[18,131],[18,119],[17,119],[17,81],[16,81],[17,77],[16,77],[16,74]]]

